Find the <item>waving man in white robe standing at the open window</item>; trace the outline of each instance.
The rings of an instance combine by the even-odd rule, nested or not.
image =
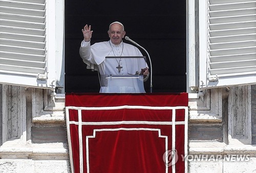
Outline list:
[[[117,57],[111,59],[111,64],[108,68],[112,75],[138,75],[140,74],[143,81],[149,76],[148,66],[139,59],[134,61],[132,59],[122,59],[120,56],[143,56],[138,48],[133,45],[126,44],[122,41],[125,35],[124,27],[118,21],[110,24],[109,27],[109,41],[97,42],[91,46],[90,40],[92,38],[91,26],[84,26],[82,29],[84,39],[80,46],[80,56],[83,62],[87,64],[87,69],[92,71],[97,70],[100,73],[101,88],[100,93],[145,93],[143,82],[135,79],[115,79],[114,82],[107,82],[105,78],[105,57]],[[111,80],[112,81],[112,80]],[[117,81],[117,82],[116,82]],[[142,86],[141,86],[142,83]]]

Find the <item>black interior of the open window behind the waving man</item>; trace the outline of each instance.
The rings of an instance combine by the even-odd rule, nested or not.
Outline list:
[[[86,24],[92,26],[91,44],[94,44],[109,40],[107,31],[113,21],[120,21],[126,35],[150,54],[153,92],[186,92],[185,0],[66,0],[65,14],[66,93],[99,92],[97,72],[86,69],[79,56],[81,29]],[[147,57],[143,50],[141,53]],[[147,63],[150,67],[148,57]],[[150,92],[150,79],[144,88]]]

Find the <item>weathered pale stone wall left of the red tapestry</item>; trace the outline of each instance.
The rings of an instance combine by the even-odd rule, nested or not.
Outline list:
[[[71,172],[65,97],[46,89],[0,89],[0,172]]]

